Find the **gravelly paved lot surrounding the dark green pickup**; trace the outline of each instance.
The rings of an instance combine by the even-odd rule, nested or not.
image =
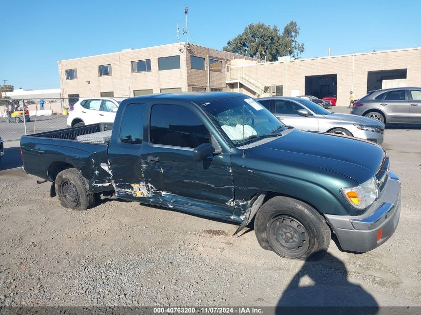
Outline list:
[[[347,111],[338,108],[335,111]],[[421,306],[421,130],[387,129],[384,147],[402,181],[393,237],[365,254],[334,242],[319,262],[282,259],[237,226],[138,203],[72,211],[50,185],[0,162],[0,306]],[[361,157],[366,158],[364,156]]]

